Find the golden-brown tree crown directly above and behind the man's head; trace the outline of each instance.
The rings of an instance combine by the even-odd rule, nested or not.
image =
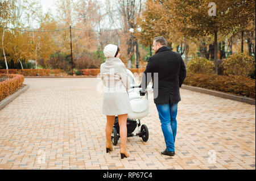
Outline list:
[[[168,47],[172,48],[172,45],[181,42],[181,46],[177,45],[177,49],[182,49],[182,42],[186,40],[185,35],[188,31],[187,23],[185,23],[188,15],[183,12],[182,4],[183,1],[148,0],[142,15],[137,18],[137,22],[142,29],[141,32],[137,33],[141,43],[151,47],[154,37],[164,36]],[[187,44],[184,47],[186,50]],[[187,53],[185,54],[187,55]]]

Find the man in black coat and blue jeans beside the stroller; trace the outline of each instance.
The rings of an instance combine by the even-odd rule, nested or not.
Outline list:
[[[166,142],[166,150],[161,153],[173,156],[175,154],[174,143],[177,130],[177,104],[181,100],[179,88],[186,77],[186,68],[180,53],[173,52],[166,46],[167,43],[164,37],[154,38],[152,49],[155,54],[148,59],[140,87],[144,91],[152,77],[154,103],[158,110]],[[154,75],[156,77],[157,74],[158,79],[154,80]],[[158,81],[158,87],[156,87],[157,85],[154,87],[156,81]]]

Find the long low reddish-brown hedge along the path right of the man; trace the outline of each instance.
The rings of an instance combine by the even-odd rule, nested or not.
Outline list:
[[[187,73],[184,84],[255,99],[255,79],[241,75]]]

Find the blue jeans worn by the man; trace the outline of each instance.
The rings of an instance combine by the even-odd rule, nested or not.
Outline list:
[[[161,127],[166,141],[167,151],[174,151],[174,142],[177,132],[177,103],[155,104],[158,110]]]

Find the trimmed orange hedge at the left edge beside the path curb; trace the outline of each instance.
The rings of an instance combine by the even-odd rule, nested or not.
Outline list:
[[[0,77],[9,78],[0,82],[0,101],[19,90],[24,82],[24,76],[19,74],[0,74]]]

